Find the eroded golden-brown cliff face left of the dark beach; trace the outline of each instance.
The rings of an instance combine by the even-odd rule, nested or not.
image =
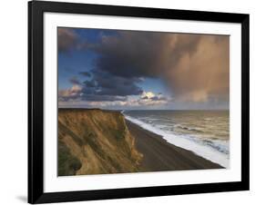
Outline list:
[[[138,171],[136,150],[120,112],[58,110],[58,175]]]

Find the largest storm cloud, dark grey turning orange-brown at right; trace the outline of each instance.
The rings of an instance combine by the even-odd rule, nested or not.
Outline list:
[[[120,31],[94,49],[98,70],[160,78],[180,101],[229,99],[229,36]]]

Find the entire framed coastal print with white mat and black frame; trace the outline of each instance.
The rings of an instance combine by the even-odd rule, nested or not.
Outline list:
[[[249,190],[249,15],[28,3],[28,202]]]

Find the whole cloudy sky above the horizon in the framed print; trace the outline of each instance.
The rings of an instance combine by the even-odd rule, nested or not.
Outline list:
[[[58,27],[57,47],[59,107],[229,109],[227,35]]]

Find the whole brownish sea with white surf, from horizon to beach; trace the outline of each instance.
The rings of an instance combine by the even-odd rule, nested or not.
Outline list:
[[[230,166],[229,111],[122,111],[125,118],[167,142]]]

